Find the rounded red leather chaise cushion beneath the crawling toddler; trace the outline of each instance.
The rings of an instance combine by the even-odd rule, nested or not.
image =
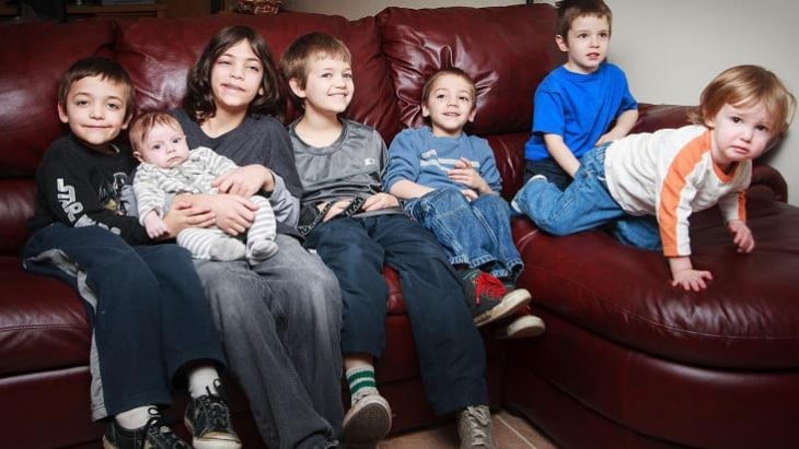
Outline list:
[[[750,190],[756,246],[739,255],[717,209],[692,218],[692,260],[709,270],[707,290],[672,287],[662,255],[592,231],[552,237],[513,223],[525,261],[520,283],[534,307],[657,357],[730,369],[799,367],[799,208]],[[534,287],[533,287],[534,286]]]

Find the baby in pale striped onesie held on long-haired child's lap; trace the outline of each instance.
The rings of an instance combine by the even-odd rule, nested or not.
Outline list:
[[[216,194],[212,181],[238,166],[213,150],[190,150],[181,123],[167,113],[143,114],[130,126],[134,156],[141,162],[134,178],[139,221],[150,238],[169,234],[163,221],[172,198],[178,193]],[[177,244],[197,259],[236,260],[246,257],[250,264],[277,252],[275,214],[269,200],[253,196],[258,209],[246,233],[246,241],[218,227],[193,227],[177,235]]]

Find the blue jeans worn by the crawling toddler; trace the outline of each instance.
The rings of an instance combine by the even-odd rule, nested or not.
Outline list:
[[[645,249],[660,249],[658,225],[651,216],[628,215],[613,199],[605,181],[605,150],[600,145],[582,157],[574,181],[560,191],[552,182],[530,179],[513,204],[553,235],[569,235],[615,222],[614,236]]]

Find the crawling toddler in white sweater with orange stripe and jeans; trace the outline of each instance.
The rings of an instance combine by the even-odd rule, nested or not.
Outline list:
[[[774,73],[733,67],[702,92],[694,125],[601,144],[565,191],[536,175],[512,206],[554,235],[615,222],[622,241],[662,249],[673,286],[698,292],[713,275],[691,263],[688,217],[719,204],[738,251],[754,249],[744,208],[752,159],[787,130],[795,106]]]

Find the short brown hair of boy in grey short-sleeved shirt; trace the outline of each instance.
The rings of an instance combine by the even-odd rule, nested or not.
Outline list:
[[[311,58],[331,58],[352,63],[349,48],[339,39],[324,33],[309,33],[298,37],[280,58],[280,69],[287,80],[296,80],[297,84],[305,87],[308,67]]]

